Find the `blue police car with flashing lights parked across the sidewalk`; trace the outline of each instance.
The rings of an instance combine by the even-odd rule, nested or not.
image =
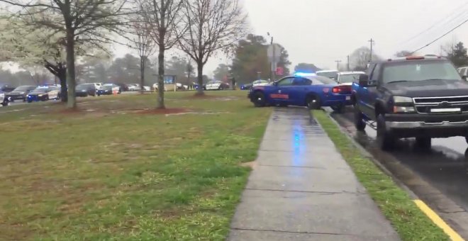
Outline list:
[[[307,106],[318,109],[330,106],[341,111],[344,106],[352,105],[350,85],[307,73],[296,73],[271,84],[255,86],[250,89],[248,98],[257,107]]]

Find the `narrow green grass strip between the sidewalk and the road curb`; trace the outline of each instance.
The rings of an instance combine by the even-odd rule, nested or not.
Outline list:
[[[408,194],[367,157],[341,132],[323,111],[313,111],[330,139],[350,164],[357,179],[367,189],[380,210],[390,220],[402,240],[450,240],[411,200]]]

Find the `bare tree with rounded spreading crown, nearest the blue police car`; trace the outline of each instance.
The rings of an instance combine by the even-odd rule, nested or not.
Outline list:
[[[179,47],[196,62],[198,84],[203,86],[208,58],[243,37],[247,16],[238,0],[185,0],[183,12],[187,30]],[[203,95],[203,88],[197,94]]]

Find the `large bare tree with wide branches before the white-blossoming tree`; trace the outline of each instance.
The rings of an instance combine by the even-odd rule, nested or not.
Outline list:
[[[62,34],[67,53],[68,108],[76,107],[75,99],[75,45],[89,43],[103,48],[113,43],[108,35],[122,26],[121,16],[130,13],[128,0],[0,0],[13,6],[11,13],[21,16],[29,26]],[[18,8],[19,7],[19,8]]]

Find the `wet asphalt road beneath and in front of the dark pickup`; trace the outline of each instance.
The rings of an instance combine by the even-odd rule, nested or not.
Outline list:
[[[374,158],[428,203],[462,237],[468,239],[468,144],[464,138],[433,139],[430,150],[418,150],[414,139],[399,141],[395,150],[382,152],[375,145],[376,131],[357,132],[352,109],[333,118]]]

